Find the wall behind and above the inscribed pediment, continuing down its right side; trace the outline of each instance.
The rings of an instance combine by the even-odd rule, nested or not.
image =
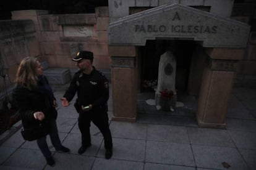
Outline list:
[[[177,1],[177,0],[155,0],[155,1],[108,1],[109,23],[124,19],[130,14],[142,10],[162,6],[164,4],[181,4],[201,9],[221,17],[231,18],[250,25],[250,37],[247,42],[244,58],[239,62],[236,71],[234,86],[256,87],[256,1]]]

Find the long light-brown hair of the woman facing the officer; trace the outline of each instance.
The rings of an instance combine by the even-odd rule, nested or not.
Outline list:
[[[39,60],[34,57],[25,57],[20,62],[16,73],[15,83],[32,89],[36,86],[38,76],[36,75],[36,68]]]

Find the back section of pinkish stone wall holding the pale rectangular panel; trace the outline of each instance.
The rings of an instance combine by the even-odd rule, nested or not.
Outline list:
[[[110,70],[108,55],[108,7],[95,14],[48,14],[46,10],[12,12],[12,20],[31,19],[35,25],[41,60],[49,67],[75,68],[71,61],[78,51],[94,54],[96,68]]]

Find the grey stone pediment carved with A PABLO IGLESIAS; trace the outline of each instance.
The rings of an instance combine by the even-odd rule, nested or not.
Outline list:
[[[109,23],[109,44],[145,46],[148,39],[189,39],[203,47],[247,46],[250,26],[180,4],[164,4]]]

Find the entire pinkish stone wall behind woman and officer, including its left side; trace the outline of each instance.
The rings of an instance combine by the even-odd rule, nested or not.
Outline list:
[[[110,72],[107,29],[108,7],[97,7],[95,14],[12,11],[12,20],[0,21],[0,68],[8,75],[0,77],[0,103],[6,92],[11,93],[20,60],[27,56],[52,68],[77,68],[71,59],[88,50],[94,53],[93,65]]]

